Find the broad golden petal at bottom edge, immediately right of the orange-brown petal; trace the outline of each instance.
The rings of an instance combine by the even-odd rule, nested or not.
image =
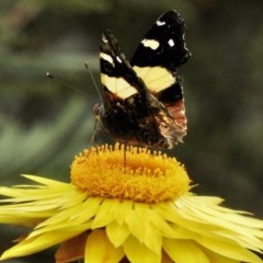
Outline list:
[[[122,248],[114,248],[102,229],[93,230],[85,244],[85,263],[118,263],[124,258]]]

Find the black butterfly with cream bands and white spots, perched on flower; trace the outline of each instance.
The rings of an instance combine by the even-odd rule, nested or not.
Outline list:
[[[116,140],[171,149],[186,135],[182,80],[176,71],[191,56],[184,32],[185,23],[176,11],[162,14],[130,61],[110,30],[102,34],[103,103],[93,110]]]

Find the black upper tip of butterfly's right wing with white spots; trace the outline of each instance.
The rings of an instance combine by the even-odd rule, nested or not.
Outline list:
[[[185,46],[184,32],[184,21],[176,11],[164,13],[141,41],[130,65],[174,71],[191,55]]]

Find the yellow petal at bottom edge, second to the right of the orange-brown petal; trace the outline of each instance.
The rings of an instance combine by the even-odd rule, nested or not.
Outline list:
[[[129,236],[124,243],[124,251],[128,260],[133,263],[160,263],[161,254],[148,249],[138,239]]]

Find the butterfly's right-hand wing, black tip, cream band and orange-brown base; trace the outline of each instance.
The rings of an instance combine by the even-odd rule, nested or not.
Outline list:
[[[182,81],[176,69],[191,56],[184,32],[185,23],[176,11],[164,13],[140,42],[130,61],[147,88],[174,117],[182,137],[186,134],[187,121]]]

